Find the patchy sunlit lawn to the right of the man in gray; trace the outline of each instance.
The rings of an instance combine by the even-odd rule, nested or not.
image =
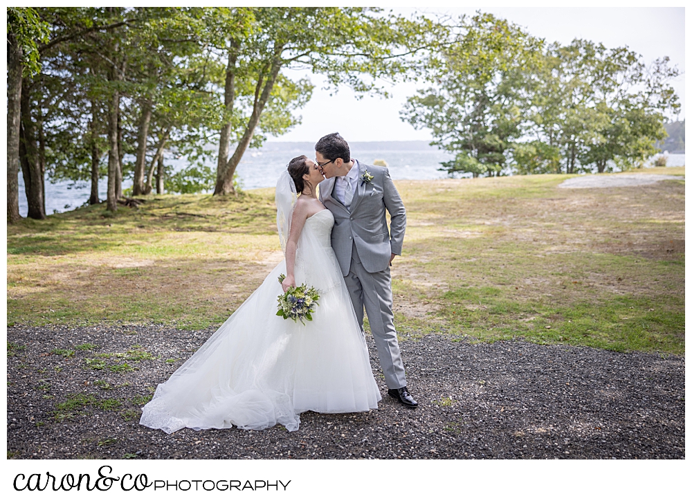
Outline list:
[[[563,179],[400,182],[400,336],[684,354],[684,183],[556,189]]]

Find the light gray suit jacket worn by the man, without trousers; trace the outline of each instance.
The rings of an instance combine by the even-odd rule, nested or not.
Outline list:
[[[366,170],[373,176],[370,183],[362,180]],[[358,162],[358,189],[350,212],[334,197],[335,184],[336,178],[320,183],[320,201],[334,214],[331,246],[341,273],[348,275],[353,244],[367,272],[384,271],[389,266],[392,253],[401,255],[403,234],[406,232],[406,209],[389,170]],[[390,228],[387,227],[385,209],[390,213]]]

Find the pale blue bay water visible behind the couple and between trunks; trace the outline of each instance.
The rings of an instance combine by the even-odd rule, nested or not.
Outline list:
[[[446,178],[448,177],[446,172],[439,170],[440,163],[453,158],[451,154],[428,146],[425,141],[352,143],[351,149],[352,156],[363,163],[372,164],[375,160],[384,160],[388,164],[392,179]],[[266,143],[262,149],[248,150],[237,167],[242,187],[245,190],[273,187],[291,158],[303,154],[309,158],[314,156],[313,143],[275,142]],[[685,163],[684,154],[668,154],[667,157],[669,167]],[[185,158],[172,156],[166,156],[165,163],[170,165],[174,172],[188,165]],[[130,179],[122,181],[123,188],[129,188],[131,185]],[[107,180],[101,179],[98,188],[99,198],[104,200]],[[46,180],[46,213],[65,212],[82,206],[89,200],[89,191],[89,183],[86,181],[51,183]],[[19,213],[26,217],[26,195],[21,173],[19,174]]]

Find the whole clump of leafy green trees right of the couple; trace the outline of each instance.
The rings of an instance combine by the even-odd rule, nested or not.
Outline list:
[[[680,109],[667,57],[575,39],[546,45],[489,14],[463,17],[426,61],[427,89],[402,118],[454,153],[443,169],[473,176],[604,172],[642,165]]]

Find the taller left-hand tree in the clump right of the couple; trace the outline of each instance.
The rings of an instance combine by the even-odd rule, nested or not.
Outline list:
[[[456,154],[442,163],[450,174],[498,175],[507,149],[525,132],[542,42],[489,14],[462,18],[451,36],[428,59],[433,86],[408,99],[402,119],[428,127],[431,144]]]

